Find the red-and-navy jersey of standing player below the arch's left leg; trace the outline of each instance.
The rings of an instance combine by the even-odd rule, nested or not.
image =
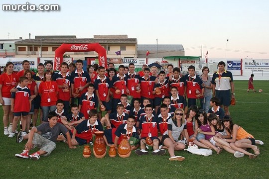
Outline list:
[[[66,76],[63,77],[62,73],[56,73],[53,76],[53,80],[56,81],[57,85],[68,85],[68,89],[70,90],[70,75],[66,74]],[[58,99],[62,99],[64,101],[69,101],[71,96],[70,96],[70,91],[65,91],[66,89],[59,88],[59,92],[57,94]]]

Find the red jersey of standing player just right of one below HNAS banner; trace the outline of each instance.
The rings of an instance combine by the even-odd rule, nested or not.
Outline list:
[[[154,88],[154,84],[155,84],[155,79],[156,77],[151,77],[149,76],[149,78],[145,79],[145,77],[142,77],[140,79],[141,82],[141,91],[140,94],[143,97],[147,97],[150,99],[154,98],[154,95],[152,94],[153,88]]]

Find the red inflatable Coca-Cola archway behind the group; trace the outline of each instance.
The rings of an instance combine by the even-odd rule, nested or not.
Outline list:
[[[107,68],[107,51],[99,43],[91,44],[62,44],[55,50],[53,70],[59,71],[60,65],[63,62],[63,54],[65,52],[91,52],[98,53],[99,66]]]

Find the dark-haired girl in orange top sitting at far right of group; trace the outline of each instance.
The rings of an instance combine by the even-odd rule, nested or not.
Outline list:
[[[255,159],[260,155],[260,149],[256,146],[256,141],[253,135],[249,134],[241,126],[234,124],[230,115],[225,115],[223,117],[223,123],[227,130],[227,134],[232,135],[231,139],[225,139],[225,141],[230,143],[232,149],[248,155],[250,159]],[[254,154],[247,152],[245,150],[247,148],[252,149]]]

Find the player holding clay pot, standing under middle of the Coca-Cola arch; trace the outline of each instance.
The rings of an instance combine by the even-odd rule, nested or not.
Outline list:
[[[87,92],[87,87],[91,83],[89,73],[83,70],[83,61],[76,61],[77,70],[71,74],[71,91],[74,98],[79,98],[81,94]]]

